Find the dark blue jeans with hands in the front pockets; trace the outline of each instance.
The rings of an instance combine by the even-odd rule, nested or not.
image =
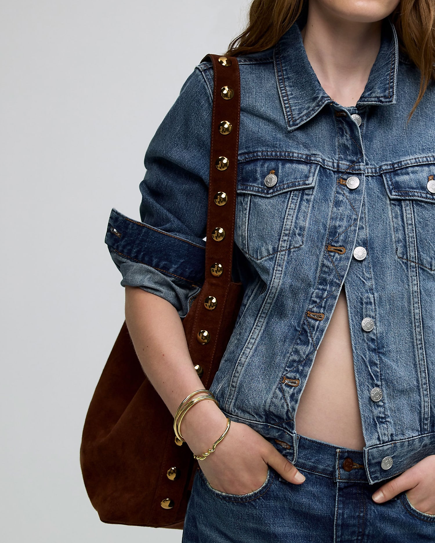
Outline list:
[[[371,495],[363,455],[298,435],[300,485],[269,468],[250,494],[225,494],[197,470],[182,543],[417,543],[435,541],[435,515],[420,513],[405,492],[385,503]],[[287,456],[291,451],[275,446]],[[286,444],[286,446],[288,446]]]

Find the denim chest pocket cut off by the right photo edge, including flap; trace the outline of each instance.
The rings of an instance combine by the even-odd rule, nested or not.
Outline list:
[[[435,271],[435,163],[382,174],[397,257]]]

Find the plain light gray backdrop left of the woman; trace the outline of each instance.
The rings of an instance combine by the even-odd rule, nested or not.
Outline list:
[[[4,0],[0,5],[5,543],[181,541],[102,523],[79,465],[83,422],[123,322],[104,244],[111,207],[139,219],[146,147],[249,0]]]

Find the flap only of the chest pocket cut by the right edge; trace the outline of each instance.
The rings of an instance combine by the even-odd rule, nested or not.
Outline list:
[[[435,193],[428,189],[435,179],[435,163],[407,166],[382,174],[389,197],[395,199],[435,202]],[[432,184],[431,184],[432,181]]]

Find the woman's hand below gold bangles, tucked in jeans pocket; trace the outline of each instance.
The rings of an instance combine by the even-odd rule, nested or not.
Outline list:
[[[195,408],[201,404],[202,410],[198,409],[195,419],[192,408],[187,424],[184,425],[184,419],[182,422],[183,437],[196,455],[211,448],[226,428],[226,416],[214,403],[198,402]],[[268,465],[290,483],[301,484],[305,480],[261,434],[234,421],[215,451],[198,463],[210,485],[226,494],[248,494],[260,488],[266,480]]]

